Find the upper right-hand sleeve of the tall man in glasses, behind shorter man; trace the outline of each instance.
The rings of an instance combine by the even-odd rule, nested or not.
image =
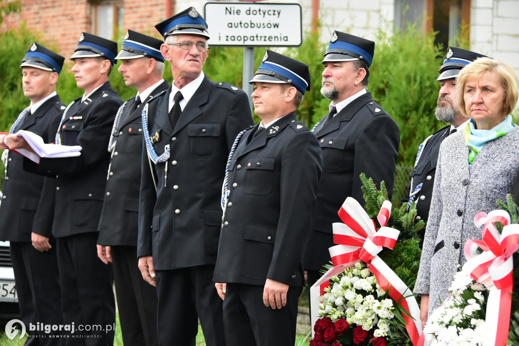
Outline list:
[[[254,125],[254,121],[252,120],[249,97],[244,91],[240,91],[233,99],[233,104],[229,107],[229,113],[227,114],[225,123],[227,151],[230,151],[231,147],[233,147],[236,136],[242,130],[252,125]]]

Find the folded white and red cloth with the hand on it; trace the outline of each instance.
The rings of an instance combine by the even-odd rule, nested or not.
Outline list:
[[[40,157],[73,157],[81,155],[81,146],[46,144],[42,137],[30,131],[20,130],[16,134],[6,136],[5,139],[10,150],[16,151],[36,163],[39,163]]]

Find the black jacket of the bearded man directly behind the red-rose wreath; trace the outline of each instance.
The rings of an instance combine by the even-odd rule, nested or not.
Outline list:
[[[332,223],[342,222],[337,212],[346,197],[364,206],[361,173],[377,186],[384,180],[391,197],[400,142],[397,123],[371,93],[354,99],[327,124],[325,119],[314,131],[321,145],[323,174],[304,256],[305,269],[311,270],[330,262]]]

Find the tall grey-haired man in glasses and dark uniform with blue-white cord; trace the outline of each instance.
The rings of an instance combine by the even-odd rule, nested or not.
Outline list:
[[[253,124],[247,95],[207,78],[207,23],[194,7],[157,24],[173,85],[143,108],[139,268],[157,287],[160,345],[224,345],[222,300],[212,277],[227,156]]]

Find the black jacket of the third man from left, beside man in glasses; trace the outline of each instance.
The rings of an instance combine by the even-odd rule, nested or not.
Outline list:
[[[167,81],[162,82],[145,102],[167,90],[168,86]],[[98,244],[101,245],[137,246],[143,148],[141,113],[144,103],[136,108],[135,97],[132,97],[121,106],[124,109],[114,135],[116,144],[112,150],[98,227]]]

